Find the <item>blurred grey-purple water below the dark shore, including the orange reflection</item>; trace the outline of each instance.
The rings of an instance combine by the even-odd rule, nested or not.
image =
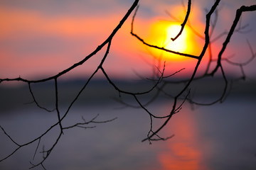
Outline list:
[[[47,169],[256,169],[256,106],[255,101],[231,98],[214,106],[183,107],[170,124],[160,133],[167,141],[141,142],[149,130],[149,116],[140,109],[117,109],[116,104],[105,103],[97,107],[78,106],[71,110],[68,121],[73,125],[90,120],[110,123],[96,128],[65,130],[58,145],[45,162]],[[159,113],[169,109],[169,103],[157,103],[151,111]],[[65,108],[63,108],[64,110]],[[0,125],[18,143],[22,144],[43,132],[57,120],[55,113],[28,108],[21,113],[1,116]],[[155,123],[154,125],[158,125]],[[41,141],[47,149],[55,141],[58,127]],[[15,145],[0,132],[0,157],[9,154]],[[0,163],[0,169],[28,169],[37,142],[19,150]],[[35,161],[42,155],[36,154]],[[42,169],[40,166],[36,169]]]

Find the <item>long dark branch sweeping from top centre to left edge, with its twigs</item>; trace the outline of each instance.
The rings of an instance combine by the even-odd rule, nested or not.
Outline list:
[[[60,140],[60,137],[64,134],[63,133],[63,130],[68,130],[70,128],[75,128],[75,127],[81,127],[81,125],[87,125],[88,123],[107,123],[107,122],[110,122],[114,119],[111,119],[111,120],[106,120],[106,121],[95,121],[95,117],[93,120],[89,121],[89,122],[85,122],[85,123],[78,123],[78,124],[75,124],[73,126],[69,126],[69,127],[65,127],[63,128],[63,125],[62,125],[62,121],[63,119],[66,117],[66,115],[68,115],[69,111],[70,111],[70,108],[73,106],[73,104],[75,103],[75,101],[78,100],[78,97],[80,96],[80,94],[82,93],[82,91],[86,88],[87,84],[89,84],[90,80],[92,79],[92,77],[95,76],[95,74],[99,71],[99,70],[102,70],[102,72],[105,73],[103,67],[102,67],[102,64],[105,62],[105,59],[110,51],[110,45],[111,45],[111,41],[112,41],[112,38],[114,37],[114,35],[116,35],[116,33],[118,32],[118,30],[122,27],[122,25],[124,24],[125,21],[127,21],[127,18],[129,17],[129,15],[132,13],[132,11],[134,10],[134,8],[137,6],[139,0],[135,0],[134,3],[132,4],[132,6],[129,8],[129,10],[127,11],[127,13],[125,13],[124,17],[122,18],[122,20],[119,22],[119,24],[116,26],[116,28],[114,28],[114,30],[112,31],[112,33],[110,34],[110,36],[104,41],[102,42],[101,45],[99,45],[93,52],[90,53],[90,55],[87,55],[83,60],[81,60],[80,62],[77,62],[75,64],[73,64],[71,67],[68,67],[68,69],[65,69],[63,70],[62,72],[58,73],[58,74],[55,74],[55,76],[53,77],[48,77],[46,79],[37,79],[37,80],[28,80],[28,79],[23,79],[22,77],[17,77],[17,78],[14,78],[14,79],[9,79],[9,78],[5,78],[5,79],[0,79],[0,84],[4,81],[23,81],[25,83],[28,84],[28,88],[29,88],[29,91],[31,93],[31,96],[33,98],[33,102],[36,103],[36,106],[38,106],[38,108],[43,108],[42,106],[40,106],[38,104],[38,101],[36,101],[36,98],[32,92],[32,89],[31,89],[31,84],[37,84],[37,83],[42,83],[42,82],[45,82],[45,81],[50,81],[50,80],[54,80],[55,82],[55,109],[54,111],[56,111],[57,115],[58,115],[58,122],[51,125],[50,128],[48,128],[48,130],[46,130],[46,132],[43,132],[41,135],[39,135],[38,137],[36,137],[35,139],[29,141],[29,142],[26,142],[24,143],[23,145],[19,145],[18,142],[16,142],[12,137],[11,135],[9,135],[8,132],[6,132],[6,130],[4,130],[4,128],[2,126],[0,126],[1,130],[4,132],[4,134],[9,137],[9,140],[11,140],[11,142],[13,142],[17,148],[14,149],[13,152],[11,152],[11,154],[7,155],[6,157],[4,158],[1,158],[0,159],[0,162],[4,161],[5,159],[8,159],[9,157],[11,157],[13,154],[15,154],[19,149],[21,149],[22,147],[25,147],[27,145],[31,145],[33,142],[36,142],[38,141],[38,145],[40,144],[40,141],[41,139],[46,135],[48,134],[48,132],[50,132],[50,130],[52,130],[56,125],[59,125],[60,126],[60,132],[58,134],[58,137],[56,137],[56,140],[55,142],[53,143],[53,145],[50,147],[50,149],[47,149],[46,151],[43,150],[43,159],[41,160],[41,162],[38,162],[36,164],[32,163],[31,162],[31,169],[35,168],[36,166],[42,166],[43,169],[46,169],[45,166],[43,166],[43,162],[46,161],[46,159],[49,157],[50,153],[53,151],[54,147],[58,144],[59,140]],[[82,89],[80,89],[80,91],[78,92],[78,94],[75,96],[75,98],[73,99],[73,101],[70,103],[70,105],[68,106],[68,109],[67,111],[65,111],[64,115],[62,117],[60,117],[60,111],[59,111],[59,106],[58,106],[58,78],[63,76],[64,74],[70,72],[71,70],[75,69],[75,67],[78,67],[82,64],[84,64],[85,62],[87,62],[87,60],[89,60],[91,57],[93,57],[94,55],[97,54],[97,52],[99,52],[100,50],[102,50],[102,47],[105,47],[105,45],[107,45],[107,50],[105,52],[105,55],[104,57],[102,58],[102,61],[100,62],[99,66],[97,67],[97,69],[95,70],[95,72],[93,72],[93,74],[90,76],[90,78],[87,80],[87,82],[85,83],[85,85],[82,87]],[[109,80],[110,81],[110,80]],[[46,109],[46,108],[43,108],[44,110],[50,112],[50,110]],[[36,147],[36,151],[35,151],[35,154],[38,150],[38,145]],[[44,155],[46,154],[46,155]],[[34,155],[35,157],[35,155]]]

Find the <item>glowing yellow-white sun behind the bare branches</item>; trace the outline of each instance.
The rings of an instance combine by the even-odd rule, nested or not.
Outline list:
[[[193,50],[193,42],[191,42],[191,33],[188,28],[184,28],[182,34],[176,39],[176,35],[181,30],[181,23],[170,21],[156,21],[152,24],[149,36],[146,41],[151,45],[164,47],[175,52],[189,53]],[[154,48],[147,48],[148,52],[156,58],[162,60],[186,60],[186,57],[175,55],[170,52],[164,52]]]

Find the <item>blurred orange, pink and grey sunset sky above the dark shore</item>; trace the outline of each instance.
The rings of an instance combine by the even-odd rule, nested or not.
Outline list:
[[[205,11],[214,1],[192,1],[190,16],[191,26],[203,35]],[[79,62],[97,48],[112,33],[133,0],[1,0],[0,1],[0,77],[35,79],[48,77]],[[182,1],[142,0],[134,23],[134,32],[144,40],[161,44],[166,35],[166,23],[180,24],[186,11]],[[186,7],[186,1],[183,2]],[[242,5],[250,6],[255,1],[221,1],[218,26],[213,38],[228,30],[235,17],[235,10]],[[175,21],[168,13],[176,16]],[[249,23],[245,30],[249,33],[235,34],[225,52],[225,57],[232,57],[234,62],[243,62],[250,58],[247,40],[256,52],[256,12],[245,13],[242,24]],[[186,68],[179,75],[191,74],[196,60],[186,57],[163,57],[162,52],[145,47],[130,35],[132,16],[114,37],[110,54],[103,67],[114,78],[149,77],[156,67],[163,67],[166,61],[166,74],[172,74]],[[175,22],[174,22],[175,21]],[[156,28],[156,29],[155,29]],[[164,29],[161,29],[164,28]],[[155,30],[154,30],[155,29]],[[185,42],[190,47],[185,52],[199,55],[203,40],[186,28],[188,35]],[[218,55],[225,36],[213,43],[213,55]],[[174,46],[175,47],[175,46]],[[90,75],[100,63],[104,55],[103,48],[81,67],[73,70],[65,77],[82,77]],[[169,56],[169,55],[168,55]],[[208,56],[204,57],[204,63]],[[256,62],[248,64],[245,73],[256,77]],[[200,67],[204,70],[202,64]],[[225,67],[229,74],[240,74],[237,67]],[[102,74],[98,74],[101,77]],[[178,75],[176,75],[178,76]]]

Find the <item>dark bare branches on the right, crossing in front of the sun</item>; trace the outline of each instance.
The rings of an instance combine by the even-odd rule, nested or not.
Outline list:
[[[239,26],[239,28],[237,30],[235,30],[236,26],[238,25],[238,23],[240,21],[240,16],[242,15],[242,12],[245,12],[245,11],[256,11],[256,8],[255,8],[255,5],[253,5],[253,6],[241,6],[238,9],[238,11],[236,13],[236,16],[235,16],[235,20],[233,21],[233,25],[231,26],[231,28],[230,28],[230,30],[228,32],[227,38],[225,39],[225,42],[223,42],[223,47],[222,47],[222,49],[219,52],[218,61],[217,61],[216,65],[215,65],[215,69],[213,69],[212,72],[208,73],[209,69],[210,69],[210,65],[213,63],[212,52],[211,52],[211,47],[210,47],[210,43],[211,43],[210,38],[213,35],[213,31],[214,31],[214,28],[215,28],[216,23],[217,23],[217,18],[218,18],[218,8],[217,7],[218,7],[219,3],[220,3],[220,0],[215,1],[213,6],[210,8],[210,11],[208,11],[208,13],[206,14],[206,24],[205,24],[206,27],[205,27],[205,30],[204,30],[204,33],[205,33],[204,37],[202,35],[200,35],[198,33],[198,31],[192,29],[193,33],[198,35],[199,38],[203,38],[203,40],[204,40],[204,45],[202,47],[201,54],[198,55],[198,56],[191,55],[191,54],[184,54],[184,53],[181,53],[181,52],[176,52],[174,50],[166,49],[164,47],[159,47],[157,45],[152,45],[149,42],[146,42],[137,33],[134,33],[134,21],[135,21],[135,16],[137,15],[137,11],[138,11],[139,6],[137,7],[136,11],[134,12],[134,16],[132,18],[131,34],[132,34],[132,36],[137,38],[137,40],[139,40],[140,42],[142,42],[144,45],[146,45],[148,47],[153,47],[153,48],[156,48],[158,50],[163,50],[165,52],[170,52],[170,53],[173,53],[175,55],[180,55],[181,57],[190,57],[190,58],[193,58],[195,60],[198,60],[197,63],[196,63],[195,68],[193,69],[193,74],[191,75],[191,78],[187,79],[187,80],[176,82],[178,84],[180,84],[180,83],[186,84],[183,87],[183,89],[181,89],[181,91],[179,91],[176,96],[169,95],[171,98],[174,98],[174,102],[172,104],[173,107],[172,107],[171,111],[169,111],[169,115],[166,115],[166,116],[162,117],[162,118],[166,118],[165,122],[155,131],[153,131],[152,127],[150,127],[149,134],[147,135],[147,137],[144,140],[142,140],[143,142],[146,141],[146,140],[149,140],[149,142],[150,142],[152,137],[154,137],[154,136],[159,137],[159,135],[157,135],[159,133],[159,131],[161,131],[167,125],[167,123],[169,123],[169,120],[171,120],[172,115],[174,115],[174,113],[176,113],[176,111],[180,111],[180,108],[181,108],[183,103],[181,103],[181,106],[177,106],[178,100],[185,100],[185,101],[187,100],[190,103],[193,103],[193,104],[196,104],[196,105],[203,105],[203,106],[210,106],[210,105],[213,105],[213,104],[218,103],[218,102],[222,103],[225,100],[225,96],[228,94],[228,79],[225,76],[223,65],[221,64],[221,61],[223,60],[222,59],[223,52],[225,51],[225,49],[226,49],[226,47],[228,45],[228,42],[230,42],[230,38],[232,37],[233,33],[235,31],[239,32],[240,30],[245,28],[245,27]],[[181,24],[181,30],[178,33],[178,35],[176,35],[176,38],[178,38],[178,36],[181,35],[183,28],[186,26],[186,23],[188,23],[188,17],[189,17],[189,13],[190,13],[190,8],[191,8],[191,1],[188,1],[188,10],[187,10],[187,13],[186,13],[186,18],[184,19],[183,23]],[[213,13],[215,13],[215,19],[212,21],[211,19],[212,19]],[[170,13],[168,13],[168,14],[169,14],[169,16],[174,18],[176,21],[178,21],[178,19],[175,16],[171,15]],[[189,27],[193,28],[190,24],[189,24]],[[211,30],[210,30],[210,28],[211,28]],[[226,34],[227,33],[223,33],[220,36],[223,36],[223,35],[226,35]],[[176,38],[173,38],[172,40],[176,40]],[[215,40],[217,40],[217,39],[215,39]],[[210,60],[209,60],[208,65],[206,67],[206,72],[201,77],[196,77],[196,73],[198,72],[198,67],[201,64],[201,60],[203,59],[203,57],[206,56],[206,50],[209,50],[209,53],[210,53],[210,55],[209,55],[210,56]],[[250,60],[248,60],[248,62],[251,62],[255,58],[255,54],[254,54],[254,52],[253,52],[251,47],[250,47],[250,51],[252,53],[252,57],[251,57]],[[242,65],[238,64],[238,63],[233,63],[233,62],[230,62],[230,60],[227,60],[227,59],[225,59],[225,61],[229,62],[230,64],[240,66],[242,75],[244,75],[244,72],[243,72],[243,69],[242,69],[242,65],[243,65],[242,63],[241,63]],[[247,64],[248,62],[245,62],[244,64]],[[188,98],[189,92],[187,93],[187,95],[185,97],[182,97],[182,95],[185,94],[186,91],[190,91],[189,90],[189,86],[191,85],[192,81],[196,81],[198,79],[203,79],[205,77],[213,77],[214,74],[218,71],[219,68],[220,68],[220,72],[222,73],[222,77],[223,77],[223,81],[224,81],[224,86],[223,86],[223,92],[219,96],[218,99],[216,99],[215,101],[212,101],[210,103],[198,103],[196,101],[193,101],[193,99]],[[163,94],[167,94],[164,91],[164,87],[166,86],[166,84],[173,84],[173,83],[174,82],[165,81],[163,79],[163,85],[162,86],[158,86],[158,89]],[[140,107],[144,108],[143,106],[140,106]],[[144,110],[147,113],[149,113],[149,111],[147,111],[146,108],[144,108]],[[152,117],[153,116],[152,116],[151,113],[149,113],[149,117],[150,117],[151,123],[152,123],[152,121],[153,121]],[[151,135],[150,135],[150,133],[151,133]],[[159,140],[164,140],[164,138],[159,137]]]

